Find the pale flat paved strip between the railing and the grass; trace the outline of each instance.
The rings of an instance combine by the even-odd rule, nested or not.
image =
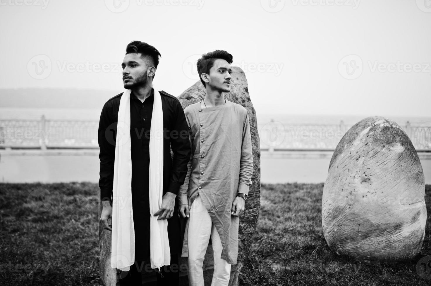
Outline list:
[[[97,151],[70,151],[66,155],[7,156],[0,152],[0,179],[3,182],[70,182],[99,180]],[[64,151],[63,151],[64,152]],[[322,159],[261,157],[262,183],[320,183],[326,180],[331,156]],[[421,160],[426,184],[431,184],[431,160]]]

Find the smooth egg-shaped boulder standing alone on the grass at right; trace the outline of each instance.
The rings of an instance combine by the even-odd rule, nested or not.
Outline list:
[[[413,258],[426,218],[424,173],[406,133],[384,117],[356,123],[338,143],[323,188],[328,246],[355,258]]]

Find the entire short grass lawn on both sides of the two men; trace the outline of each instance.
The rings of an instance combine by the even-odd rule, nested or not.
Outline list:
[[[430,185],[422,251],[412,261],[382,264],[331,252],[322,233],[322,191],[323,184],[262,185],[241,285],[431,284],[431,260],[428,280],[416,270],[431,255]],[[0,285],[100,285],[98,199],[91,183],[0,184]]]

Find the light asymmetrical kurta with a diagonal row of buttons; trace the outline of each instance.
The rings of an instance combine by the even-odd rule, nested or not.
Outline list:
[[[238,218],[231,215],[237,193],[248,194],[253,173],[248,111],[239,104],[201,108],[200,102],[184,109],[192,143],[179,204],[189,208],[199,194],[222,240],[222,259],[236,264]],[[181,256],[188,256],[187,229]]]

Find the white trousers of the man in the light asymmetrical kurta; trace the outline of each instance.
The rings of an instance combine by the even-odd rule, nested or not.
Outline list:
[[[190,209],[187,231],[188,279],[190,286],[204,286],[202,266],[210,236],[214,251],[214,274],[212,275],[211,286],[227,286],[231,276],[231,264],[220,258],[222,255],[222,241],[198,195]]]

